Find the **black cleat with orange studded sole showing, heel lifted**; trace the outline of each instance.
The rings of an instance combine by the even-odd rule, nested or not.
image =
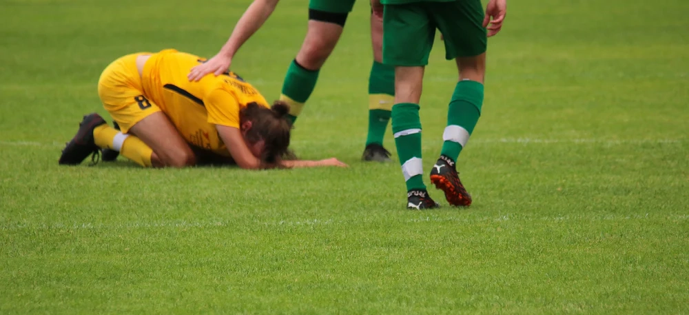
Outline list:
[[[447,156],[441,155],[438,162],[433,165],[431,170],[431,183],[435,188],[445,192],[445,199],[451,205],[468,207],[471,205],[471,195],[466,192],[460,174],[455,169],[455,161]]]

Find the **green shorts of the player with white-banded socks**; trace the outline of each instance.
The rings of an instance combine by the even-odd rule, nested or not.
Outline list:
[[[435,29],[445,40],[445,58],[486,52],[486,29],[480,0],[387,4],[383,10],[383,63],[427,65]]]

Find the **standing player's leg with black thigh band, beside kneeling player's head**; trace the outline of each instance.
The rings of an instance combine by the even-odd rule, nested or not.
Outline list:
[[[292,123],[316,87],[318,72],[335,49],[353,5],[354,0],[309,2],[309,29],[296,58],[289,64],[280,94],[280,100],[289,104]]]

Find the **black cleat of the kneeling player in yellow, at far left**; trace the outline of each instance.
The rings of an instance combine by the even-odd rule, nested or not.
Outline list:
[[[58,163],[61,165],[79,165],[90,154],[94,154],[95,162],[95,155],[98,154],[99,148],[94,142],[93,130],[104,123],[105,120],[99,114],[93,113],[84,116],[84,119],[79,123],[79,131],[62,150]]]

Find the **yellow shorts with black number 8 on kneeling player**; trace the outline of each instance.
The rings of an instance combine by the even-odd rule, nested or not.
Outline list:
[[[141,75],[136,69],[136,57],[142,54],[151,53],[128,54],[113,61],[98,80],[98,96],[103,108],[110,112],[124,133],[150,114],[161,111],[158,105],[143,95]]]

